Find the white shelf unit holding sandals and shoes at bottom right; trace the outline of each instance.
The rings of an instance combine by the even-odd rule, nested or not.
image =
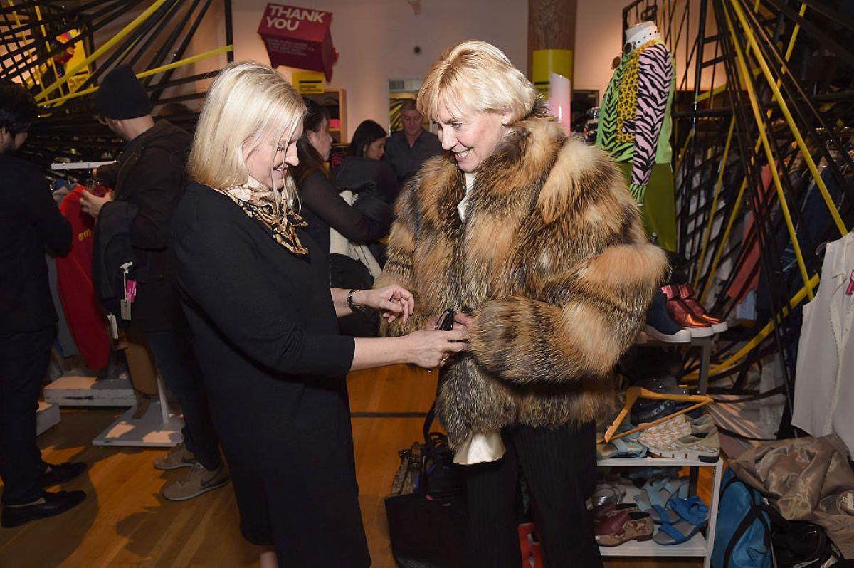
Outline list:
[[[600,547],[602,556],[668,556],[668,557],[702,557],[704,568],[709,568],[711,563],[711,548],[715,542],[715,527],[717,524],[717,501],[720,497],[721,478],[723,477],[723,460],[717,462],[700,460],[670,460],[667,458],[614,458],[611,460],[599,460],[600,467],[712,467],[714,476],[711,485],[711,503],[709,504],[709,523],[706,525],[705,536],[702,531],[694,535],[691,540],[681,544],[663,546],[654,541],[624,542],[618,547]],[[626,497],[623,502],[634,502],[635,495],[640,494],[640,489],[628,483],[623,485],[626,489]],[[659,524],[655,525],[658,531]]]

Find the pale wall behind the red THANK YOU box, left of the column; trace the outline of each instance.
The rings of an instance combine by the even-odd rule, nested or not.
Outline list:
[[[347,90],[348,137],[362,120],[388,122],[389,78],[423,77],[442,50],[460,41],[483,39],[498,45],[518,67],[526,65],[526,0],[422,0],[417,16],[407,0],[279,3],[332,12],[332,41],[341,57],[327,86]],[[269,63],[257,32],[266,4],[266,0],[232,3],[236,60]],[[412,51],[416,45],[419,55]]]

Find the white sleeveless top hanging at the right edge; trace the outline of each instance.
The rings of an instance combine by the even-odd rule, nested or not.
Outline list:
[[[804,305],[792,424],[811,436],[835,433],[854,455],[854,232],[828,244],[822,281]]]

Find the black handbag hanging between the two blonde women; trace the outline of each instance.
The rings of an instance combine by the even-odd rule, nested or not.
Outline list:
[[[465,478],[447,436],[430,431],[435,417],[436,401],[424,419],[424,442],[398,453],[401,465],[385,499],[391,552],[402,568],[465,566]]]

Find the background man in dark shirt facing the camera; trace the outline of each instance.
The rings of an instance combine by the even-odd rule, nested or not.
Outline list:
[[[401,120],[403,130],[389,136],[384,160],[394,168],[397,182],[402,187],[418,172],[424,161],[442,154],[442,143],[436,134],[424,130],[424,114],[418,111],[415,99],[407,99],[401,104]]]

